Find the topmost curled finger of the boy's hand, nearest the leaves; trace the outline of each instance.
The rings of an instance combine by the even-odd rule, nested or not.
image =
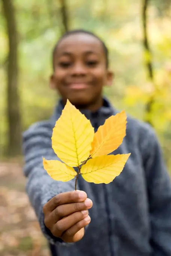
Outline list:
[[[43,212],[52,212],[57,206],[61,204],[82,202],[86,200],[86,198],[86,192],[81,190],[60,193],[45,204],[45,206],[43,207]]]

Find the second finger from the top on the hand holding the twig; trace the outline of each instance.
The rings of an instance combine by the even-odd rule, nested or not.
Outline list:
[[[53,212],[49,216],[49,219],[51,223],[56,223],[63,217],[71,215],[74,212],[80,212],[82,210],[90,209],[92,206],[93,202],[89,198],[86,198],[84,202],[80,203],[63,204],[53,210]]]

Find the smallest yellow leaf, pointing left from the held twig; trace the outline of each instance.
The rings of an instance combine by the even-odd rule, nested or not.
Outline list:
[[[74,168],[57,160],[46,160],[43,158],[43,167],[52,179],[58,181],[69,181],[77,175]]]

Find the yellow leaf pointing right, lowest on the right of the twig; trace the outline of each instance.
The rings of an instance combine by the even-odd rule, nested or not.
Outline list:
[[[81,167],[81,174],[88,182],[108,184],[121,173],[129,156],[118,154],[92,158]]]

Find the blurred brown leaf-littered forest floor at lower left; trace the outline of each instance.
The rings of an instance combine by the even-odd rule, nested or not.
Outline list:
[[[0,256],[49,256],[18,160],[0,162]]]

